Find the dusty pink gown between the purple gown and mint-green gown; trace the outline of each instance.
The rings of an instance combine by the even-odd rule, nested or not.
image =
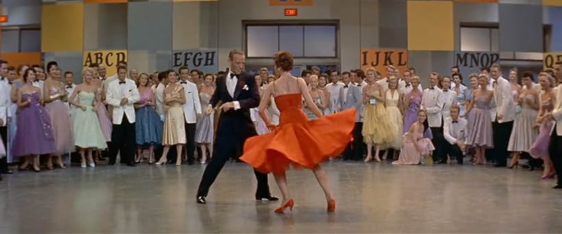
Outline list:
[[[63,92],[62,83],[60,87],[53,87],[49,90],[49,96]],[[66,105],[57,99],[45,104],[47,114],[51,118],[51,126],[55,134],[55,155],[64,155],[75,151],[74,138],[71,130],[71,121]]]

